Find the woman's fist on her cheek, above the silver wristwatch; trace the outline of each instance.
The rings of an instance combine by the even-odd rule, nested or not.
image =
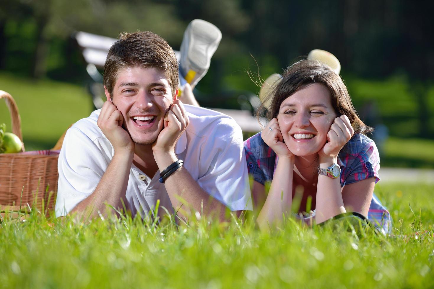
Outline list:
[[[342,147],[351,139],[354,129],[346,115],[336,117],[327,133],[327,143],[318,152],[322,159],[336,159]]]

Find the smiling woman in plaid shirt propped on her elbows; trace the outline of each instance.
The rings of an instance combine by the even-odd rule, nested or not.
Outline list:
[[[352,211],[388,232],[388,211],[373,196],[380,159],[364,135],[372,128],[357,116],[339,75],[320,62],[300,61],[285,71],[269,97],[270,122],[244,143],[253,201],[263,204],[259,226],[279,223],[297,195],[300,215],[312,204],[314,211],[303,217],[308,222]]]

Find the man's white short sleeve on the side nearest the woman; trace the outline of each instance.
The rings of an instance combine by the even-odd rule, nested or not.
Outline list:
[[[224,119],[201,148],[202,175],[197,183],[231,211],[253,210],[243,135],[232,119]]]

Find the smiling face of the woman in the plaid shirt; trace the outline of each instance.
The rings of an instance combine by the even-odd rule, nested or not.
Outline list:
[[[280,104],[277,121],[291,153],[311,156],[327,142],[327,133],[336,117],[329,90],[314,83],[298,89]]]

